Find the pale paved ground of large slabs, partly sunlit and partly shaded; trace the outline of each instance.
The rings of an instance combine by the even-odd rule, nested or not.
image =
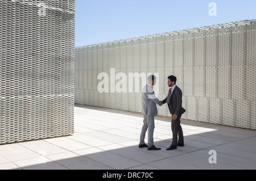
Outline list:
[[[0,145],[0,169],[256,169],[256,131],[181,120],[185,146],[167,151],[170,117],[156,116],[162,149],[155,151],[138,148],[142,120],[141,113],[75,105],[75,134]]]

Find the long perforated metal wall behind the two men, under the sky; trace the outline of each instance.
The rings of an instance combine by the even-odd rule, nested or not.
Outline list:
[[[168,75],[175,75],[183,119],[256,129],[255,42],[253,19],[76,47],[75,103],[141,112],[140,92],[111,92],[111,80],[120,81],[115,75],[158,73],[160,100]],[[109,92],[98,92],[99,73],[109,75]],[[158,111],[171,116],[166,105]]]

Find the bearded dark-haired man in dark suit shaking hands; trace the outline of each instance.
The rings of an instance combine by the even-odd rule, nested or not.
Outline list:
[[[177,149],[177,146],[184,146],[184,137],[180,125],[180,117],[186,110],[182,107],[182,91],[178,86],[176,86],[176,80],[177,78],[174,75],[168,77],[167,83],[171,89],[168,91],[167,98],[162,101],[163,104],[168,104],[170,113],[172,115],[172,144],[166,150],[174,150]]]

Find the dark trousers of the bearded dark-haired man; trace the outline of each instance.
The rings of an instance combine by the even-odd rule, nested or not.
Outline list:
[[[172,128],[172,145],[176,146],[177,143],[184,144],[184,137],[183,131],[180,125],[180,117],[181,115],[177,116],[176,120],[172,120],[171,128]],[[179,136],[179,141],[178,141]]]

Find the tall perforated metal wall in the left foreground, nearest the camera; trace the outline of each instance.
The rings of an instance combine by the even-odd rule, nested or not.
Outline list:
[[[0,1],[0,144],[73,133],[75,1]]]

